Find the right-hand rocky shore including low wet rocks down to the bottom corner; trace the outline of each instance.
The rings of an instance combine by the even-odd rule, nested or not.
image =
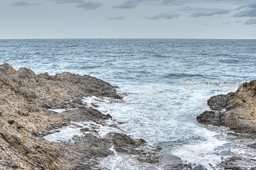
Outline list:
[[[256,148],[256,80],[245,82],[236,92],[211,97],[207,104],[211,111],[197,116],[204,125],[228,127],[234,133],[228,138]],[[232,156],[220,165],[223,169],[256,169],[255,159]]]

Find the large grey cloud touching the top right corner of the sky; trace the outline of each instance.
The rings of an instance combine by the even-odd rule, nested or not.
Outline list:
[[[256,17],[256,1],[253,1],[249,4],[241,5],[236,9],[243,10],[236,12],[232,15],[232,17]]]

